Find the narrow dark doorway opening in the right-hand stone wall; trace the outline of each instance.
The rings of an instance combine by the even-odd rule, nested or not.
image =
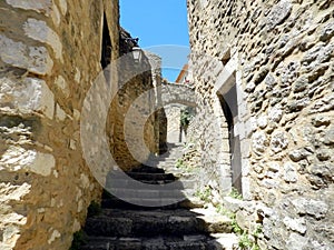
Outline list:
[[[240,140],[239,136],[234,133],[234,126],[238,117],[236,87],[233,86],[224,96],[218,94],[218,98],[228,126],[232,186],[243,193]]]

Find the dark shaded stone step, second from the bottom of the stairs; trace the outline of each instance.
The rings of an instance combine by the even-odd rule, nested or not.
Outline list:
[[[85,231],[89,236],[155,237],[206,232],[208,228],[202,218],[186,209],[104,209],[100,216],[87,219]]]

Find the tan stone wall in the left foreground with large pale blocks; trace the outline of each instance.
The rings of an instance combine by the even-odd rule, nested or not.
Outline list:
[[[99,200],[80,112],[104,22],[118,57],[118,17],[109,0],[0,2],[0,249],[68,249]]]

